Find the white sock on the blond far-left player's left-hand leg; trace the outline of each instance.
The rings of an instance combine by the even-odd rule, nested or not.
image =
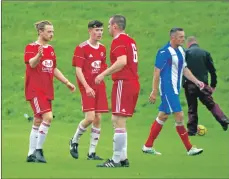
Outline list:
[[[38,128],[37,126],[32,126],[30,136],[29,136],[29,152],[28,156],[32,155],[36,150],[37,138],[38,138]]]

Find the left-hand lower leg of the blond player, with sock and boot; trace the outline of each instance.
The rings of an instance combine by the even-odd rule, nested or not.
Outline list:
[[[26,160],[27,162],[35,162],[35,150],[37,145],[38,129],[40,127],[41,122],[41,117],[38,118],[34,116],[33,125],[29,137],[29,152]]]

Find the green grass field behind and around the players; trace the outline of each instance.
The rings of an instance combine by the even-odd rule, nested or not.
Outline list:
[[[106,30],[111,15],[127,17],[127,32],[139,48],[141,95],[135,116],[128,121],[128,158],[130,168],[98,169],[98,162],[87,161],[89,132],[80,142],[80,159],[69,155],[68,140],[83,118],[80,95],[70,94],[55,81],[56,116],[44,150],[47,164],[25,162],[31,123],[23,114],[32,114],[24,100],[23,52],[26,44],[36,40],[33,23],[48,19],[54,24],[52,45],[58,66],[75,82],[71,66],[73,50],[88,38],[87,23],[93,19],[105,22],[102,43],[109,45]],[[3,2],[2,3],[2,177],[3,178],[228,178],[228,132],[223,132],[204,106],[199,107],[200,123],[208,129],[204,137],[192,137],[193,144],[204,148],[203,155],[188,157],[176,133],[174,120],[166,123],[156,149],[162,156],[146,156],[141,147],[149,126],[157,114],[156,105],[148,104],[154,57],[168,41],[171,27],[181,26],[186,35],[196,35],[202,47],[214,58],[218,71],[218,88],[214,98],[229,115],[229,8],[223,2]],[[109,59],[108,59],[109,60]],[[110,99],[111,79],[106,79]],[[184,94],[181,101],[185,113]],[[187,116],[187,115],[186,115]],[[187,117],[185,118],[187,121]],[[113,130],[110,114],[103,117],[102,135],[97,152],[104,158],[112,155]]]

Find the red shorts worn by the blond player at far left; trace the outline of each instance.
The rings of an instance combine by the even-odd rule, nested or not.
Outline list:
[[[30,105],[36,118],[41,119],[42,114],[52,111],[52,101],[45,96],[34,97],[30,100]]]

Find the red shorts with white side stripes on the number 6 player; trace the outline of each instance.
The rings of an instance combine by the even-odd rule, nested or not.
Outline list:
[[[137,80],[114,81],[112,88],[112,114],[117,116],[131,117],[134,113],[140,84]]]

